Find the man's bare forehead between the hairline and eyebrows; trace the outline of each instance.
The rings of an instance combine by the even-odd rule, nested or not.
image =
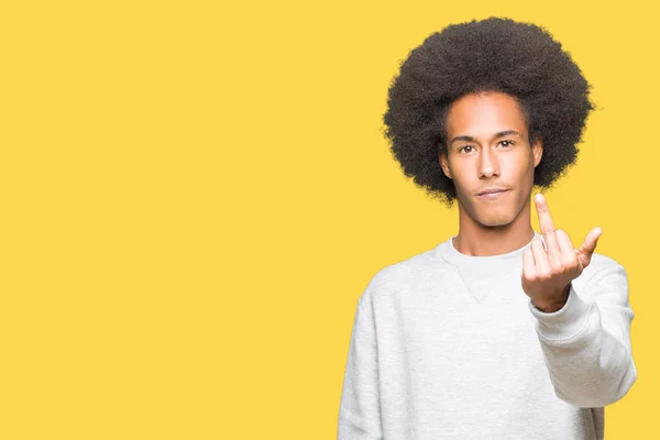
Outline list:
[[[447,116],[449,136],[466,134],[488,138],[493,133],[516,130],[524,133],[525,118],[509,95],[490,91],[471,94],[452,102]]]

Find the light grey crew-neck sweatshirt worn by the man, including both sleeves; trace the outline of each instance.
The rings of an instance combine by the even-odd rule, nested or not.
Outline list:
[[[338,440],[603,439],[603,407],[637,378],[625,268],[594,253],[544,314],[520,284],[530,243],[471,256],[452,239],[359,298]]]

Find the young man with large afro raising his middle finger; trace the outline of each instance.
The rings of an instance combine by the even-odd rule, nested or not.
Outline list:
[[[454,24],[411,51],[384,116],[407,176],[459,233],[376,273],[359,299],[338,439],[603,439],[637,378],[625,268],[574,248],[532,187],[576,157],[593,105],[542,28]]]

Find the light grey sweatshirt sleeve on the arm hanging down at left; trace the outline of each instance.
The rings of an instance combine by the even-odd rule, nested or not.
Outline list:
[[[364,297],[364,296],[363,296]],[[383,438],[378,353],[372,314],[358,302],[339,409],[338,440]]]

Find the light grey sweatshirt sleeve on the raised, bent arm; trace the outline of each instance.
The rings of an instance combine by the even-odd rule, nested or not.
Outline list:
[[[583,287],[571,285],[562,309],[546,314],[529,301],[556,394],[579,407],[610,405],[637,380],[627,274],[614,260],[606,263]]]

